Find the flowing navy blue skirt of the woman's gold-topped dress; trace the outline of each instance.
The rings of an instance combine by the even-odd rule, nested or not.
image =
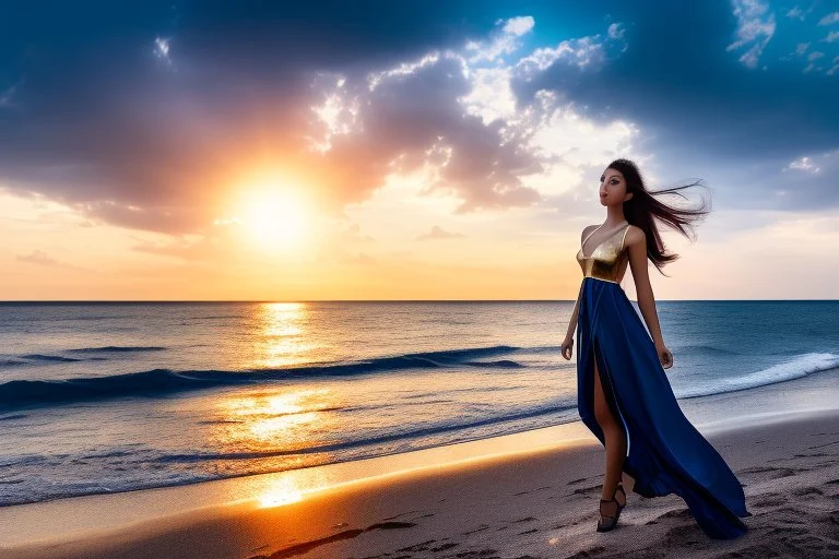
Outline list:
[[[612,254],[622,252],[623,247]],[[633,491],[648,498],[678,495],[712,538],[731,539],[745,533],[747,526],[740,516],[752,513],[746,510],[743,486],[682,413],[655,344],[619,283],[583,277],[577,340],[580,418],[605,445],[594,418],[596,360],[607,405],[626,432],[624,472],[635,479]]]

